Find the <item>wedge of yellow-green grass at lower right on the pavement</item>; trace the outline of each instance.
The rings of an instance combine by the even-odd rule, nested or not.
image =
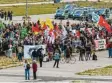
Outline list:
[[[112,66],[104,68],[91,69],[84,72],[77,73],[78,75],[89,75],[89,76],[112,76]]]

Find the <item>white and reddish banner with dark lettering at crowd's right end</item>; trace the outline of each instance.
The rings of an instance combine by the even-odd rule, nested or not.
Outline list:
[[[95,40],[95,48],[96,50],[106,49],[106,40],[105,39]]]

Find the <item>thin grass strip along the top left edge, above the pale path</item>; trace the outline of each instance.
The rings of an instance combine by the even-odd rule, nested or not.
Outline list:
[[[51,0],[28,0],[29,3],[43,2],[43,1],[51,1]],[[25,3],[25,2],[26,0],[0,0],[0,4]]]

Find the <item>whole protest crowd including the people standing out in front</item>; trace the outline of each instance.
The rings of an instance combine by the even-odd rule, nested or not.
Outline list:
[[[12,57],[16,54],[19,61],[24,57],[24,45],[44,45],[46,44],[46,55],[42,53],[42,48],[32,52],[34,79],[36,79],[37,64],[39,58],[40,67],[45,56],[48,56],[48,61],[55,60],[53,67],[59,68],[60,56],[64,55],[66,59],[73,56],[73,52],[79,52],[79,61],[87,61],[93,57],[97,60],[95,54],[94,40],[105,39],[109,48],[109,57],[112,57],[112,43],[109,42],[112,34],[108,33],[105,28],[100,28],[95,25],[85,23],[71,24],[69,21],[66,24],[52,22],[53,28],[49,30],[47,24],[37,23],[28,24],[4,24],[0,23],[0,50],[5,52],[7,57]],[[29,74],[30,67],[25,61],[25,75]],[[57,65],[56,65],[57,64]],[[27,79],[27,75],[26,75]],[[30,78],[28,78],[30,79]]]

